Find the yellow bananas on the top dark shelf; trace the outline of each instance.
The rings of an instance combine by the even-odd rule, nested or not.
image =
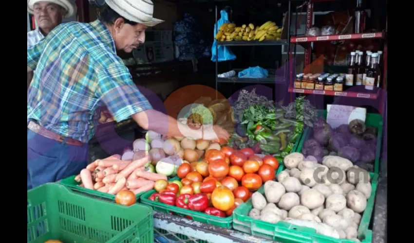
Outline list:
[[[254,26],[252,23],[237,27],[234,23],[224,23],[219,28],[219,32],[215,36],[218,41],[232,40],[280,40],[282,28],[275,22],[267,21],[261,26]]]

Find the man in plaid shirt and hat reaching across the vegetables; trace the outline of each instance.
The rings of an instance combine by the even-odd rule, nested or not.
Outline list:
[[[144,43],[146,28],[162,20],[152,17],[149,0],[106,2],[101,20],[60,24],[27,50],[27,71],[36,69],[27,96],[28,190],[86,167],[101,105],[118,122],[132,117],[168,136],[229,138],[221,127],[194,130],[152,109],[116,50],[132,52]]]

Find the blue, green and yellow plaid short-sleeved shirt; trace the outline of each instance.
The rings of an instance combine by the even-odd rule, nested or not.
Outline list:
[[[115,43],[99,20],[57,26],[27,50],[36,69],[27,95],[27,120],[65,137],[88,142],[105,105],[115,121],[152,109],[132,82]]]

